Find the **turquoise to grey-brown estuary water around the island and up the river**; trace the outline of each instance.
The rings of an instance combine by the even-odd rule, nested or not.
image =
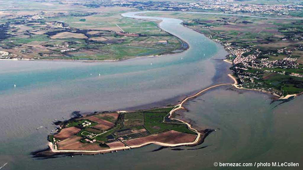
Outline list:
[[[52,120],[68,118],[75,110],[163,106],[211,84],[232,82],[225,76],[229,65],[212,60],[227,54],[221,46],[181,26],[181,20],[152,19],[162,19],[161,28],[188,42],[189,50],[122,62],[1,61],[0,166],[8,162],[3,169],[201,169],[213,168],[217,160],[269,161],[289,153],[293,162],[302,160],[301,98],[273,109],[264,94],[224,88],[187,106],[186,118],[201,127],[221,129],[206,139],[202,146],[210,146],[205,149],[150,152],[158,146],[149,145],[115,154],[32,159],[30,152],[46,147]],[[36,130],[39,126],[44,128]]]

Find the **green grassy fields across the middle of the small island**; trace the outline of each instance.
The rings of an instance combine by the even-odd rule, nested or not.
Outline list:
[[[113,136],[114,139],[117,139],[119,135],[117,132],[132,131],[128,132],[128,134],[139,134],[141,137],[150,135],[150,134],[157,134],[161,132],[166,132],[169,130],[175,130],[177,132],[182,133],[189,133],[189,134],[196,134],[195,132],[188,129],[188,126],[180,121],[177,120],[170,120],[167,118],[168,113],[174,107],[168,108],[160,108],[160,109],[152,109],[152,110],[143,110],[138,112],[130,112],[130,113],[121,113],[118,116],[118,119],[113,119],[112,116],[101,116],[102,113],[95,113],[95,116],[104,120],[111,120],[111,122],[115,122],[115,125],[110,127],[107,130],[99,130],[95,128],[98,123],[92,122],[87,119],[70,119],[68,121],[62,122],[62,128],[68,127],[77,127],[81,129],[76,135],[81,136],[81,142],[88,143],[84,139],[93,140],[96,139],[96,142],[99,143],[106,143],[108,142],[108,136]],[[90,116],[88,116],[90,117]],[[163,121],[165,119],[165,121]],[[92,125],[90,126],[83,126],[82,123],[85,121],[91,122]],[[129,122],[128,122],[129,121]],[[128,123],[127,123],[128,122]],[[128,124],[128,126],[126,126]],[[142,131],[143,130],[143,131]],[[144,132],[144,133],[141,133]],[[125,134],[120,135],[125,136]],[[133,139],[135,136],[132,136]],[[139,137],[138,135],[136,137]],[[53,141],[51,136],[48,137],[49,141]]]

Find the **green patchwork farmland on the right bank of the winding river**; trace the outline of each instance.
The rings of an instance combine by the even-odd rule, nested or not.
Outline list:
[[[256,2],[263,3],[265,1]],[[234,66],[232,70],[236,72],[236,77],[254,77],[252,79],[243,78],[241,79],[242,82],[239,82],[243,87],[249,89],[263,89],[283,96],[303,92],[302,78],[290,76],[290,74],[303,74],[303,43],[301,41],[303,28],[301,20],[275,20],[176,12],[154,12],[142,15],[182,19],[184,20],[183,25],[221,42],[225,47],[232,47],[231,51],[234,50],[235,53],[237,52],[236,49],[247,49],[247,52],[242,56],[257,56],[255,63],[261,62],[262,59],[268,59],[269,61],[279,61],[286,57],[297,59],[295,63],[298,65],[290,68],[285,68],[285,66],[268,68],[265,64],[261,66],[261,69],[246,66],[247,68],[239,70],[235,69]],[[285,49],[284,52],[279,52],[281,49]],[[233,60],[235,56],[230,55],[228,58]],[[242,67],[242,65],[239,67]],[[266,76],[268,75],[266,71],[277,73],[275,76]],[[282,75],[283,72],[285,72],[285,75]]]

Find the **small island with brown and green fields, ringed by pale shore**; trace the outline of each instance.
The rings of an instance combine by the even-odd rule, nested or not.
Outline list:
[[[34,157],[117,152],[149,144],[167,147],[200,144],[212,130],[198,132],[188,123],[171,119],[178,106],[135,112],[94,112],[57,121],[57,132],[48,136],[50,149],[36,152]]]

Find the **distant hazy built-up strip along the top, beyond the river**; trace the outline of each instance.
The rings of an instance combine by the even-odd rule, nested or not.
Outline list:
[[[210,0],[199,2],[154,2],[154,1],[103,1],[102,3],[88,2],[85,6],[98,8],[100,6],[132,7],[150,11],[205,11],[214,10],[223,13],[251,13],[262,15],[289,15],[291,11],[303,9],[301,3],[293,5],[280,4],[242,4],[233,0]]]

